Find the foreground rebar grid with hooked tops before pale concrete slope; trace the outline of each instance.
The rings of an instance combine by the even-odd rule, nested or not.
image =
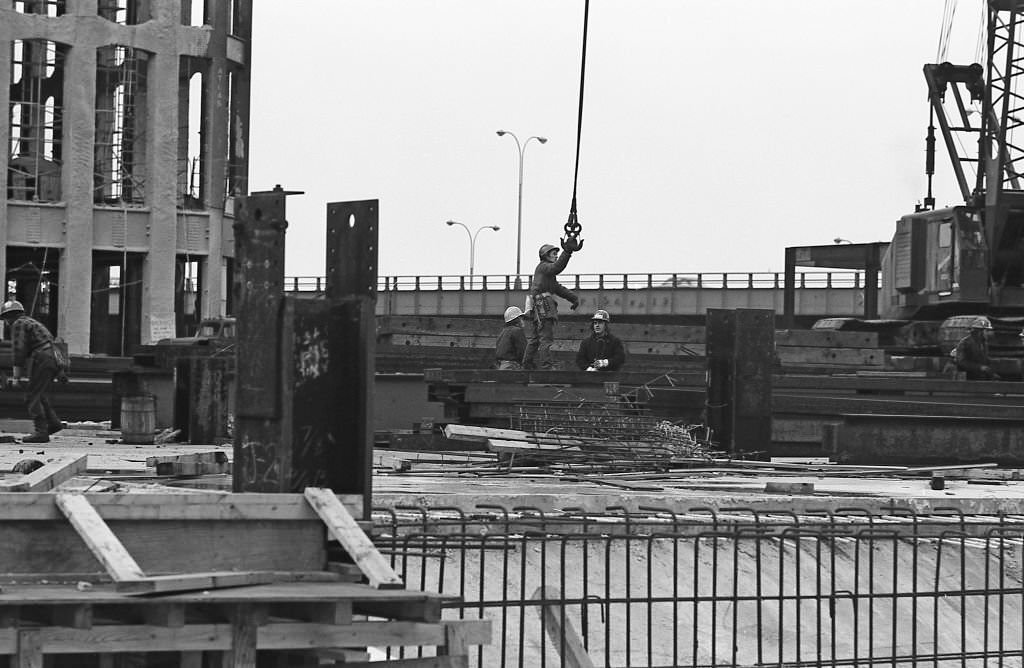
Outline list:
[[[575,665],[574,634],[599,666],[1022,665],[1021,515],[477,509],[374,512],[408,586],[492,620],[474,666]]]

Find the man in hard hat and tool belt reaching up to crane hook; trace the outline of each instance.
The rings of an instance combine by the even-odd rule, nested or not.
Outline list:
[[[541,246],[538,255],[541,257],[540,263],[534,269],[534,280],[529,285],[529,293],[526,295],[525,308],[525,330],[526,330],[526,352],[522,358],[522,366],[525,369],[537,368],[537,358],[540,357],[540,367],[542,369],[558,368],[551,358],[551,344],[555,342],[555,325],[558,323],[558,303],[555,297],[561,297],[570,304],[570,308],[575,310],[580,305],[580,297],[571,290],[562,286],[555,279],[562,273],[569,262],[569,257],[573,251],[580,250],[583,242],[572,243],[562,242],[562,249],[565,253],[559,257],[558,248],[551,244]]]

